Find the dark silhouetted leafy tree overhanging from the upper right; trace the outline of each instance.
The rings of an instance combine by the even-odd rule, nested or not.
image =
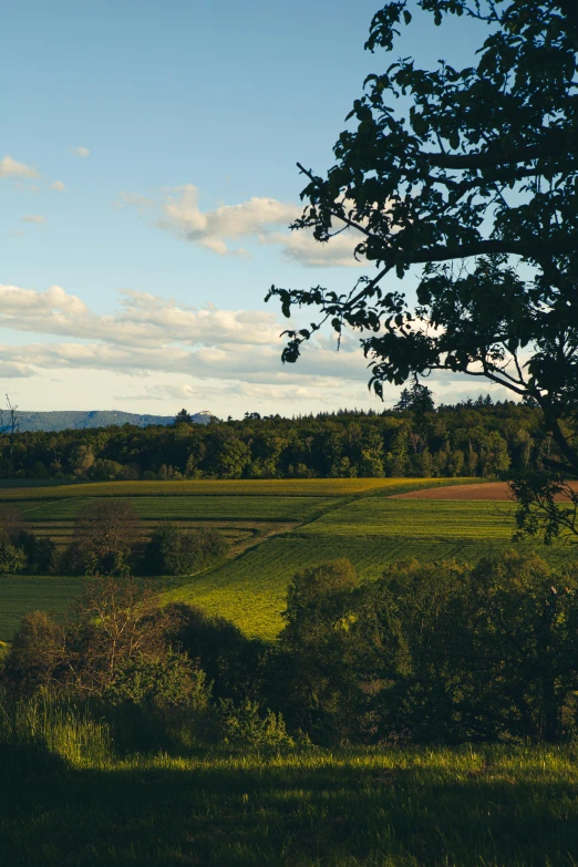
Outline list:
[[[286,332],[283,361],[329,320],[362,333],[379,395],[383,382],[436,370],[484,376],[539,405],[557,448],[550,474],[577,475],[578,7],[395,0],[374,16],[365,48],[393,51],[414,13],[436,25],[468,17],[487,35],[475,65],[427,71],[405,58],[369,75],[327,177],[298,164],[308,204],[292,228],[321,242],[358,234],[355,256],[378,272],[344,295],[271,287],[286,316],[296,305],[320,311]],[[415,266],[410,305],[384,280]],[[535,492],[514,491],[527,524]],[[548,500],[544,479],[541,491]]]

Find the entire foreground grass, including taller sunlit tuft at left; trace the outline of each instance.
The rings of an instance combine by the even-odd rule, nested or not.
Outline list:
[[[118,724],[48,698],[0,705],[2,865],[578,863],[574,747],[126,753]]]

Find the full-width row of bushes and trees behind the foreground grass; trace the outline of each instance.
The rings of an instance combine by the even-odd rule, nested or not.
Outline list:
[[[163,606],[134,578],[93,578],[64,620],[23,618],[0,711],[34,695],[89,699],[97,719],[132,721],[130,750],[146,721],[175,727],[175,714],[194,740],[252,745],[568,740],[577,589],[576,564],[555,572],[516,551],[390,565],[376,581],[348,560],[320,562],[293,575],[270,644]]]

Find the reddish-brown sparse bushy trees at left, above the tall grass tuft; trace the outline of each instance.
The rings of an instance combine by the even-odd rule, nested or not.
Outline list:
[[[64,622],[43,611],[22,619],[2,679],[23,692],[50,687],[113,702],[182,704],[205,683],[204,675],[195,683],[190,663],[172,653],[178,627],[177,610],[162,608],[149,587],[91,578]]]

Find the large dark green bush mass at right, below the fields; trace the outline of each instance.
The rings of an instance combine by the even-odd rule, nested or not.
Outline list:
[[[296,576],[281,678],[288,719],[320,742],[559,741],[576,730],[578,569],[504,553],[475,567],[342,565]],[[285,712],[285,711],[283,711]]]

